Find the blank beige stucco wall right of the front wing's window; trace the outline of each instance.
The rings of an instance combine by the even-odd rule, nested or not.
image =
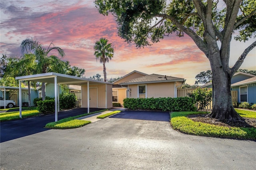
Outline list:
[[[174,97],[174,82],[147,84],[147,97]]]

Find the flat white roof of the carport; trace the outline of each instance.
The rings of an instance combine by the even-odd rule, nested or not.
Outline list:
[[[57,84],[68,84],[68,85],[87,85],[89,82],[90,85],[96,84],[113,84],[105,81],[97,81],[92,79],[86,79],[82,77],[76,77],[72,75],[60,74],[60,73],[42,73],[35,75],[25,75],[16,77],[16,80],[19,81],[36,81],[36,82],[44,82],[44,83],[54,83],[54,77],[57,77]]]

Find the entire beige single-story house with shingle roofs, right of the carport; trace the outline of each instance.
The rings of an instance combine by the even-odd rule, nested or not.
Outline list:
[[[136,75],[137,78],[131,78]],[[130,79],[130,80],[128,80]],[[147,75],[138,71],[132,71],[128,75],[114,82],[120,85],[118,94],[113,93],[112,99],[116,99],[122,104],[124,98],[158,98],[158,97],[177,97],[177,89],[185,83],[185,79],[166,75],[151,74]],[[113,88],[112,91],[116,90]],[[127,92],[127,93],[125,93]],[[121,93],[121,94],[120,94]],[[116,95],[116,96],[115,96]],[[122,96],[122,97],[120,97]]]

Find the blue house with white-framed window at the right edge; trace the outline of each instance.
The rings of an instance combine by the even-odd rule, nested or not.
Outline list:
[[[256,103],[256,76],[231,84],[238,92],[238,102]]]

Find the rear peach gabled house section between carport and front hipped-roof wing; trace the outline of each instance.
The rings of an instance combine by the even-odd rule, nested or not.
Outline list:
[[[134,71],[124,75],[120,79],[114,81],[113,85],[112,85],[112,102],[120,103],[121,106],[123,106],[123,100],[128,96],[128,94],[127,94],[128,85],[120,85],[120,83],[129,81],[132,79],[136,79],[138,77],[142,77],[145,75],[148,75],[148,74],[134,70]]]

